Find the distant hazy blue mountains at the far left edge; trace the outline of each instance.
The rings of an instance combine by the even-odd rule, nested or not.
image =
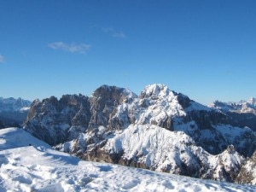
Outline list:
[[[0,129],[9,126],[20,126],[26,119],[31,102],[13,97],[0,97]]]

